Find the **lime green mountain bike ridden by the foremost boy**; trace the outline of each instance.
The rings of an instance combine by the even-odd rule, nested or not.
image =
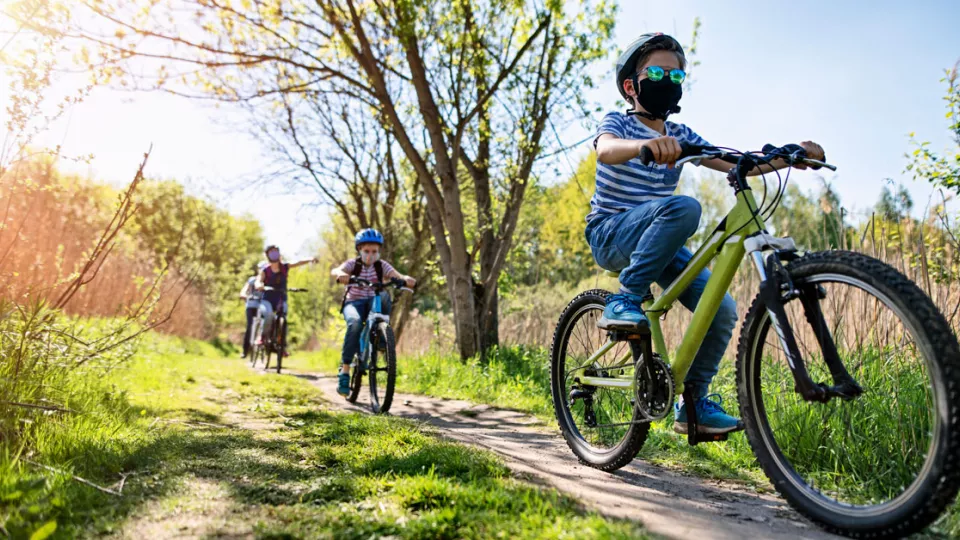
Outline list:
[[[612,471],[667,418],[683,380],[746,255],[759,292],[743,321],[737,396],[750,447],[777,491],[825,529],[851,537],[901,537],[933,522],[960,488],[960,347],[946,319],[913,282],[883,262],[846,251],[800,255],[767,232],[789,172],[758,205],[746,176],[797,145],[759,153],[687,147],[678,165],[719,158],[736,204],[687,268],[648,296],[645,332],[597,327],[604,290],[579,294],[557,324],[551,386],[568,446],[586,465]],[[641,154],[644,162],[652,156]],[[670,356],[661,320],[715,261],[693,318]],[[772,331],[771,331],[772,330]],[[827,383],[821,381],[829,381]],[[692,402],[687,394],[685,400]],[[691,445],[726,439],[700,433],[688,408]]]

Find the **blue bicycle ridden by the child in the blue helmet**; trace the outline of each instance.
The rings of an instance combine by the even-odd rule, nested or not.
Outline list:
[[[367,376],[370,387],[370,409],[374,414],[384,414],[393,403],[393,387],[397,380],[397,351],[390,326],[390,315],[383,312],[381,293],[392,288],[397,292],[413,293],[402,279],[393,278],[386,283],[374,283],[356,276],[350,277],[348,286],[371,288],[374,291],[370,314],[363,323],[360,334],[360,352],[350,364],[350,394],[347,401],[356,403]]]

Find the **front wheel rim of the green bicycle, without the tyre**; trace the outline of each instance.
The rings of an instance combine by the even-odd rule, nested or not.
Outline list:
[[[935,353],[904,308],[865,280],[820,273],[804,281],[826,291],[824,320],[864,392],[850,401],[804,401],[764,312],[748,374],[761,436],[788,481],[825,510],[851,518],[896,512],[928,476],[938,444],[944,392]],[[800,301],[785,307],[811,379],[830,384]]]

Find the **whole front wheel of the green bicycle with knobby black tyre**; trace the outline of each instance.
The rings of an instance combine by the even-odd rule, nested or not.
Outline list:
[[[926,527],[960,481],[956,337],[929,297],[876,259],[813,253],[787,271],[797,289],[818,291],[836,356],[863,393],[805,401],[758,297],[737,354],[740,412],[757,460],[794,508],[831,532],[902,537]],[[811,379],[832,384],[801,300],[785,308]]]

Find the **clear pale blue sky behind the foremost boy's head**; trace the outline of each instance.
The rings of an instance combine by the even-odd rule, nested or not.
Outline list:
[[[960,2],[624,2],[617,43],[645,31],[686,43],[697,16],[702,64],[676,121],[736,148],[815,140],[845,206],[872,205],[893,178],[922,210],[931,189],[902,174],[904,154],[911,131],[949,142],[939,81],[960,59]],[[611,85],[598,99],[616,97]]]

